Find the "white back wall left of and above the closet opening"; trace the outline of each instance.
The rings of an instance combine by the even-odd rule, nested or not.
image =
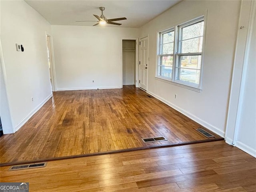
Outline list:
[[[57,90],[121,88],[121,38],[137,36],[135,28],[52,26]]]

